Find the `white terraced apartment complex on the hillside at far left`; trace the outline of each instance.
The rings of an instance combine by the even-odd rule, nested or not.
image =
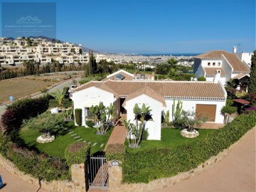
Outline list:
[[[26,41],[0,38],[0,64],[9,67],[22,65],[24,60],[35,60],[42,64],[58,60],[61,64],[88,63],[89,55],[81,55],[82,46],[70,43],[52,43],[42,38],[31,38],[36,46],[25,46]]]

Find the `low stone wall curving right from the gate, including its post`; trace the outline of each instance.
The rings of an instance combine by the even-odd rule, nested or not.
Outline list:
[[[254,127],[254,129],[255,129],[255,127]],[[252,130],[248,131],[246,134],[248,134],[249,132],[252,132]],[[201,174],[203,171],[206,171],[206,170],[210,169],[211,167],[213,167],[220,160],[225,158],[225,156],[228,155],[228,153],[234,148],[234,146],[236,146],[239,142],[241,142],[244,137],[245,136],[243,136],[240,140],[238,140],[238,142],[235,142],[234,144],[232,144],[228,149],[224,149],[223,151],[218,153],[216,156],[210,157],[210,159],[208,159],[203,164],[200,164],[195,169],[179,173],[176,176],[173,176],[171,178],[156,179],[154,181],[150,181],[149,183],[132,183],[132,184],[122,183],[122,167],[111,166],[112,161],[109,161],[108,162],[109,163],[109,169],[108,169],[109,191],[110,192],[154,191],[156,189],[166,188],[166,187],[174,185],[175,183],[185,181],[186,179],[191,178],[192,176]]]

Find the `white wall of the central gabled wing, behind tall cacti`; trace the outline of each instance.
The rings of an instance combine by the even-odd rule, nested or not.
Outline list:
[[[142,107],[143,103],[151,110],[150,114],[153,121],[148,121],[145,128],[149,132],[149,140],[161,140],[161,111],[164,110],[163,104],[147,95],[140,95],[126,102],[127,121],[131,120],[135,124],[133,108],[135,104]]]

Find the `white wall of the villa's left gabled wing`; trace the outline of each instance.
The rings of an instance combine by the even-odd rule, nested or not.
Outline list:
[[[85,107],[99,105],[100,102],[103,102],[106,107],[110,106],[110,103],[114,102],[114,94],[97,87],[89,87],[85,90],[74,92],[71,99],[74,102],[74,110],[77,108],[82,109],[82,125],[85,126]]]

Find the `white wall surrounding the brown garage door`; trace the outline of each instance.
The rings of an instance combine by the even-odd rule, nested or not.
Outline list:
[[[180,100],[182,102],[182,109],[185,111],[193,111],[196,112],[196,104],[201,105],[216,105],[216,114],[215,114],[215,123],[223,123],[224,117],[221,114],[220,110],[223,106],[225,106],[225,101],[218,100],[210,100],[210,101],[202,101],[202,100]],[[175,101],[175,105],[177,105],[178,100]],[[166,100],[166,110],[170,112],[170,121],[172,121],[172,106],[174,105],[174,100],[169,99]],[[175,107],[176,108],[176,107]]]

